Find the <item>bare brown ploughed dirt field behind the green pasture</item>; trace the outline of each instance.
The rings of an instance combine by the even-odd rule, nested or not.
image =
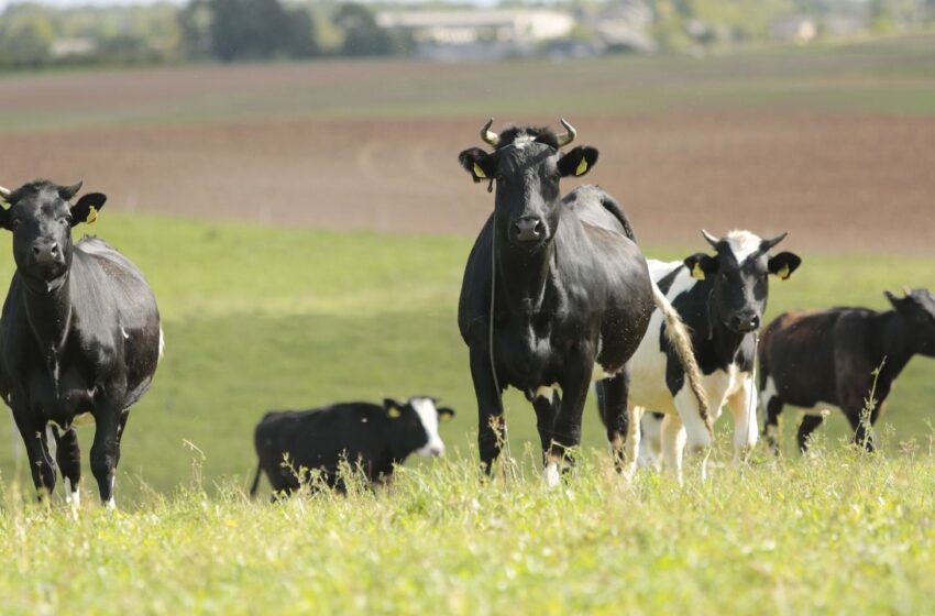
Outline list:
[[[587,179],[625,204],[642,241],[691,245],[701,227],[746,227],[789,230],[810,250],[935,253],[935,119],[573,121],[580,142],[601,150]],[[457,154],[481,145],[480,125],[293,121],[10,135],[3,182],[84,176],[123,210],[472,234],[492,197]]]

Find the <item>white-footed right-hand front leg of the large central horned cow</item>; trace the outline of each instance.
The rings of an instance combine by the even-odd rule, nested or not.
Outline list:
[[[549,487],[558,485],[560,470],[571,468],[571,450],[581,444],[581,415],[593,370],[594,353],[587,343],[572,349],[565,358],[565,374],[561,383],[563,397],[556,415],[552,444],[546,455],[543,471]]]

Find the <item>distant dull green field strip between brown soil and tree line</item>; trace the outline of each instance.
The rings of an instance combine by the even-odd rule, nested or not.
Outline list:
[[[185,66],[79,74],[100,91],[51,96],[41,103],[0,101],[0,131],[120,128],[317,118],[420,119],[647,114],[669,112],[935,113],[935,35],[763,47],[688,56],[608,56],[575,61],[430,64],[339,61],[251,67]],[[211,87],[138,100],[124,96],[141,79],[179,72]],[[138,74],[139,73],[139,74]],[[193,75],[194,74],[194,75]],[[242,75],[242,80],[226,76]],[[74,73],[0,76],[16,88],[72,92]],[[131,76],[131,78],[128,78]],[[187,77],[186,77],[187,76]],[[260,82],[253,82],[260,79]],[[145,79],[144,79],[145,80]],[[250,87],[244,84],[249,82]],[[92,84],[92,85],[88,85]]]

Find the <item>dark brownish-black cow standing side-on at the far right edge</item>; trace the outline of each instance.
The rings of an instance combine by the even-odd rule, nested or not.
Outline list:
[[[913,355],[935,358],[935,298],[926,289],[898,298],[886,292],[892,310],[831,308],[787,312],[763,332],[760,346],[760,389],[767,420],[763,435],[774,451],[779,414],[791,404],[811,409],[820,403],[839,407],[854,428],[854,440],[873,450],[869,427],[877,422],[887,396]],[[875,375],[882,366],[879,376]],[[876,378],[877,402],[864,419],[866,400]],[[799,448],[824,421],[809,413],[799,427]]]

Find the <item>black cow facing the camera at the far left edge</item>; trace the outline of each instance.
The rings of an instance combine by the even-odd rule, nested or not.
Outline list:
[[[97,424],[91,472],[101,501],[113,502],[114,470],[130,407],[150,388],[162,352],[156,299],[143,274],[97,238],[72,243],[72,228],[94,222],[107,199],[81,188],[31,182],[0,189],[0,227],[13,234],[13,274],[0,318],[0,395],[13,410],[40,496],[55,487],[56,462],[78,506],[81,477],[73,422]]]

